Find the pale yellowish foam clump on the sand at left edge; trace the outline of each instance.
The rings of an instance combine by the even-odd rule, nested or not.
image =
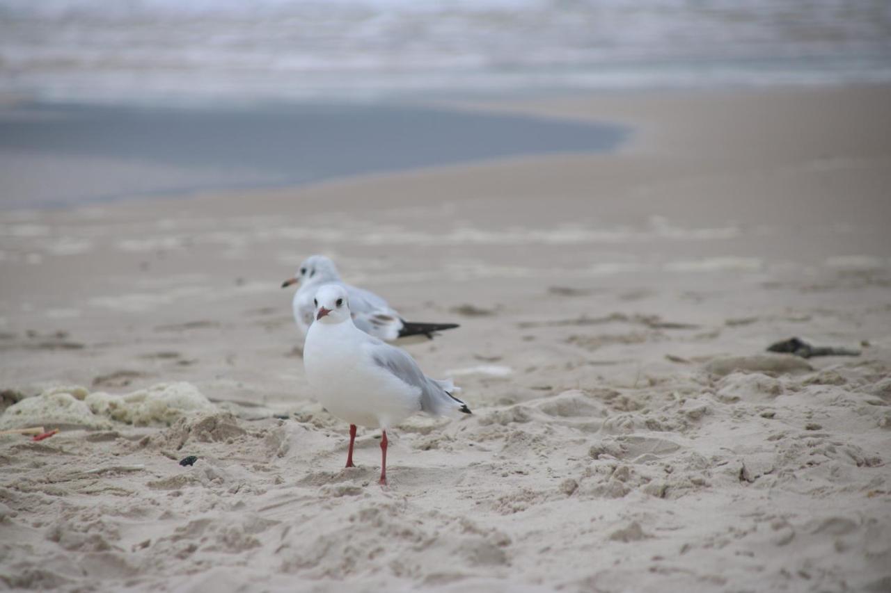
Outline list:
[[[161,383],[131,394],[93,394],[84,387],[52,387],[27,397],[0,416],[0,430],[28,426],[110,428],[115,422],[135,426],[169,425],[194,411],[216,407],[191,383]]]

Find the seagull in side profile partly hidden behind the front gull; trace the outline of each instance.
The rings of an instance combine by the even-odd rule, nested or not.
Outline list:
[[[340,280],[334,262],[325,256],[310,256],[300,264],[297,274],[282,282],[282,288],[291,284],[300,284],[291,306],[294,309],[294,321],[301,336],[306,339],[309,326],[315,321],[315,292],[326,284],[336,284],[347,290],[352,305],[353,321],[358,329],[366,334],[386,342],[393,342],[400,337],[426,336],[442,329],[457,328],[456,323],[412,323],[405,321],[380,296],[373,292],[345,284]]]

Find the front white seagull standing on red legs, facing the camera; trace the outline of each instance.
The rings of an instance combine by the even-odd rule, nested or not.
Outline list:
[[[470,414],[451,380],[421,372],[405,351],[356,328],[347,289],[323,286],[315,295],[315,323],[307,333],[303,364],[325,410],[349,422],[347,467],[353,466],[356,425],[380,428],[380,483],[387,483],[387,429],[415,412]]]

